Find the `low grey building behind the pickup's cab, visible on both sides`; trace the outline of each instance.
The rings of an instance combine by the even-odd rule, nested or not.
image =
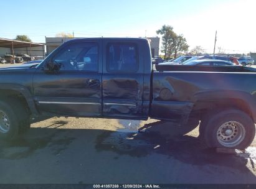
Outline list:
[[[70,37],[45,37],[46,53],[49,55],[55,48],[59,47],[64,42],[67,42],[70,39],[77,39]],[[151,54],[152,57],[158,57],[159,55],[159,37],[147,37],[150,41]]]

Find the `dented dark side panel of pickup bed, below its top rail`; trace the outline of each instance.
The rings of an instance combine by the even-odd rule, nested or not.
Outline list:
[[[180,116],[188,118],[198,101],[228,98],[242,99],[255,115],[255,106],[251,104],[255,104],[252,94],[255,93],[256,83],[249,83],[254,78],[255,73],[242,72],[153,72],[153,101],[150,116],[158,119],[176,119]]]

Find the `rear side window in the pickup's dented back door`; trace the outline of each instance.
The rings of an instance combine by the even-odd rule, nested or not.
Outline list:
[[[135,72],[138,70],[138,54],[135,44],[108,44],[107,70]]]

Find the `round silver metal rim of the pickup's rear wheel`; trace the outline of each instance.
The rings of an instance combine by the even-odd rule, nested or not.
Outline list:
[[[224,122],[217,130],[217,139],[224,147],[235,147],[245,138],[245,128],[237,121]]]

